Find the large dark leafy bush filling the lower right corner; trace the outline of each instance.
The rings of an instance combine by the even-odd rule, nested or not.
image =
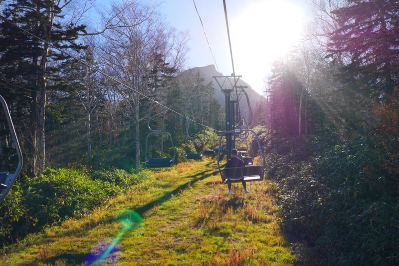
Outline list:
[[[322,264],[399,263],[399,182],[386,167],[398,151],[383,143],[353,136],[281,179],[286,229],[315,245]]]

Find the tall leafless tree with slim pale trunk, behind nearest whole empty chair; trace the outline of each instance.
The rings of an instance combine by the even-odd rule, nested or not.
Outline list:
[[[102,63],[110,75],[126,84],[114,83],[114,93],[123,99],[117,104],[128,106],[124,119],[135,126],[135,168],[140,166],[140,105],[143,96],[154,100],[166,97],[164,82],[181,66],[186,36],[178,36],[156,11],[156,5],[124,1],[113,5],[115,20],[120,26],[102,34]],[[111,24],[116,24],[111,21]],[[149,85],[150,84],[150,85]],[[122,103],[123,102],[123,103]]]

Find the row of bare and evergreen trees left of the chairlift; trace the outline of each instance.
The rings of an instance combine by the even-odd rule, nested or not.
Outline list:
[[[138,172],[152,101],[212,127],[222,123],[211,84],[181,72],[187,34],[170,27],[156,4],[112,4],[97,29],[82,20],[94,2],[1,3],[1,94],[30,176],[126,146]],[[173,128],[183,141],[186,120],[157,109],[157,128]]]

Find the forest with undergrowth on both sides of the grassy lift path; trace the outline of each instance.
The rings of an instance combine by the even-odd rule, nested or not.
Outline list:
[[[185,69],[186,33],[142,0],[112,4],[93,29],[81,22],[91,2],[0,1],[0,94],[24,159],[0,202],[3,247],[140,182],[148,120],[173,132],[177,162],[223,131],[218,88]],[[281,227],[322,265],[397,265],[399,1],[309,5],[303,41],[253,107]]]

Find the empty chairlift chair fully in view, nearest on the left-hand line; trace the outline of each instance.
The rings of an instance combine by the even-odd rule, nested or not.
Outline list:
[[[173,167],[173,165],[175,164],[176,151],[175,151],[175,145],[173,144],[172,135],[167,131],[154,130],[150,127],[151,108],[153,107],[153,105],[154,102],[151,103],[150,109],[148,111],[147,127],[151,132],[148,133],[146,137],[146,153],[145,153],[146,161],[144,163],[144,167],[147,168]],[[173,156],[171,156],[172,154],[168,154],[170,155],[169,157],[150,158],[149,146],[150,142],[153,142],[151,141],[152,137],[160,139],[161,142],[164,140],[164,138],[166,138],[171,143],[170,145],[171,145],[171,150],[173,151]],[[164,145],[161,145],[161,154],[162,155],[164,154]]]

